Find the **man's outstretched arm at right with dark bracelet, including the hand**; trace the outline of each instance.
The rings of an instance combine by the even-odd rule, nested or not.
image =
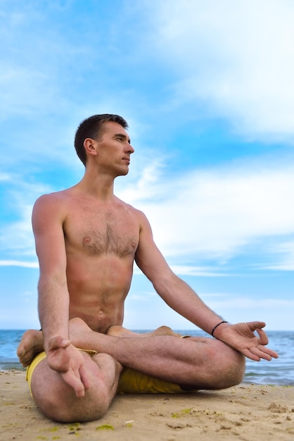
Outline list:
[[[173,273],[153,241],[151,226],[146,216],[139,212],[139,217],[141,229],[139,246],[136,250],[136,263],[146,277],[151,280],[160,297],[174,311],[206,333],[211,335],[215,328],[214,336],[216,338],[237,349],[248,358],[255,361],[276,358],[276,352],[264,346],[268,342],[267,335],[262,330],[265,323],[260,321],[234,325],[222,323],[217,326],[223,321],[222,318],[212,311],[184,280]],[[255,335],[255,330],[257,330],[258,336]]]

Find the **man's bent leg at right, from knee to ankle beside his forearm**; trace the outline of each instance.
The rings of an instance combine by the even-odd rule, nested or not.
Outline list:
[[[173,333],[155,333],[143,339],[125,333],[115,337],[95,333],[84,321],[74,318],[70,321],[70,339],[77,347],[109,354],[122,366],[185,389],[231,387],[241,382],[245,371],[243,355],[211,338],[182,339]]]

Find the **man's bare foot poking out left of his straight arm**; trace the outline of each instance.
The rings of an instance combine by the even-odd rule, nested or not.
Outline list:
[[[17,349],[18,358],[23,367],[28,366],[34,356],[42,351],[44,351],[42,332],[34,329],[25,331]]]

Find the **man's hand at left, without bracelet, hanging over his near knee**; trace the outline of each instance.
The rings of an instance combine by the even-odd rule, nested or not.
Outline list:
[[[84,357],[79,349],[70,340],[57,335],[49,340],[46,354],[51,369],[60,373],[65,383],[75,390],[77,397],[84,397],[85,389],[89,389],[90,383]]]

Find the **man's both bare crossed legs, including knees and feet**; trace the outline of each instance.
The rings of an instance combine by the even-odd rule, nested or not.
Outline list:
[[[111,333],[95,333],[79,318],[70,321],[72,344],[94,349],[98,354],[91,357],[81,353],[89,378],[84,397],[76,397],[46,359],[35,368],[32,395],[46,416],[64,422],[101,418],[115,396],[122,366],[177,383],[184,390],[223,389],[243,379],[244,357],[218,340],[180,339],[170,328],[136,335],[115,326],[110,328]],[[18,348],[20,361],[28,364],[43,350],[42,345],[41,333],[28,331]]]

